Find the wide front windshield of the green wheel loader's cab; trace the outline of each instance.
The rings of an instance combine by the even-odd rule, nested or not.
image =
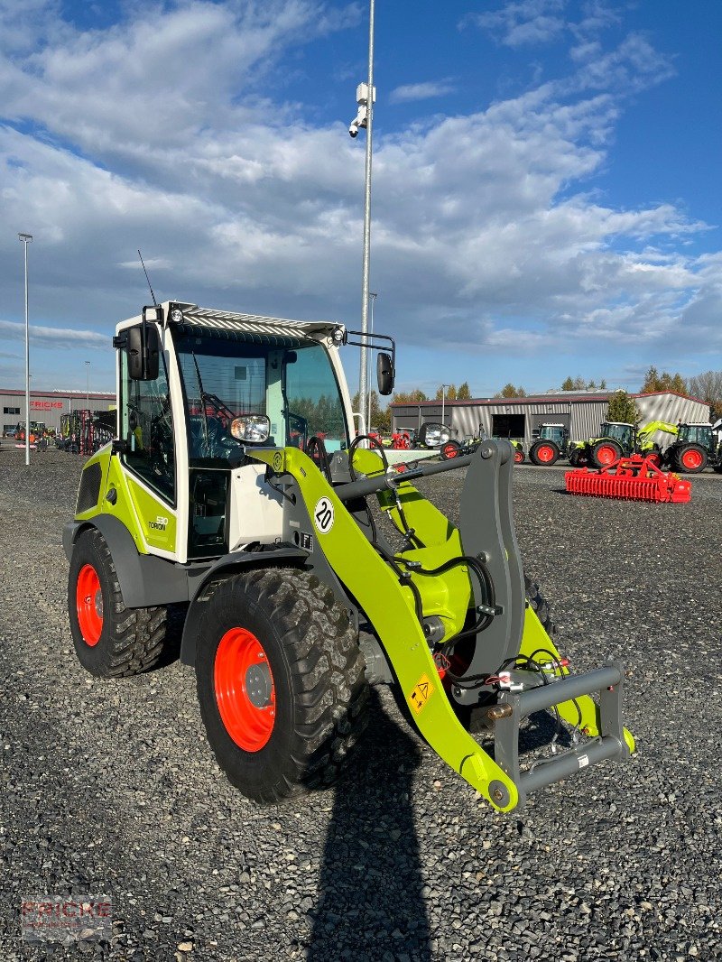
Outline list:
[[[329,452],[348,447],[341,392],[322,344],[291,348],[178,334],[176,350],[193,464],[238,451],[230,423],[239,415],[266,415],[271,446],[305,448],[317,436]]]

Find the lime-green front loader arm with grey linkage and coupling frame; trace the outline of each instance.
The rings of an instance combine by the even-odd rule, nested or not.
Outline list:
[[[268,466],[273,482],[278,483],[287,496],[286,503],[293,504],[289,510],[295,512],[296,518],[299,506],[305,509],[306,523],[318,541],[314,551],[322,552],[349,600],[374,626],[409,715],[421,735],[494,808],[509,811],[524,803],[527,793],[541,784],[554,782],[605,758],[629,754],[633,748],[632,736],[622,728],[620,720],[621,668],[607,665],[593,680],[593,672],[567,678],[551,639],[533,611],[525,607],[523,575],[510,515],[510,486],[504,483],[504,477],[510,478],[513,463],[508,443],[483,443],[458,466],[465,464],[470,468],[466,486],[468,489],[471,483],[471,489],[465,490],[467,500],[472,499],[475,492],[484,497],[477,487],[478,477],[483,474],[490,483],[485,487],[491,487],[489,496],[495,504],[492,522],[485,521],[483,527],[476,529],[470,525],[467,531],[463,520],[461,529],[457,529],[403,480],[404,475],[387,474],[372,452],[357,451],[354,455],[354,466],[365,470],[366,477],[335,487],[297,448],[249,448],[247,453]],[[508,466],[505,475],[500,470],[503,465]],[[410,473],[424,475],[455,467],[448,463],[443,467],[429,465]],[[396,552],[391,561],[380,556],[378,545],[369,540],[347,507],[358,503],[359,497],[373,493],[378,495],[381,509],[388,512],[402,534],[408,536],[409,530],[413,531],[407,546]],[[476,514],[489,515],[489,505],[485,502],[483,507],[484,511],[477,510]],[[483,548],[481,541],[484,541]],[[464,563],[465,552],[470,558],[468,565]],[[478,587],[470,573],[472,556],[486,558],[497,585],[500,610],[496,616],[489,616],[492,624],[483,632],[475,660],[466,674],[473,679],[481,671],[484,677],[504,658],[508,660],[509,655],[511,661],[515,661],[520,655],[529,658],[539,649],[544,650],[544,657],[553,665],[541,695],[534,695],[541,687],[536,676],[535,681],[529,683],[529,691],[513,696],[509,693],[508,699],[500,698],[498,709],[502,723],[496,732],[496,759],[459,721],[447,691],[448,679],[446,688],[442,682],[445,670],[435,660],[433,646],[425,634],[425,620],[429,617],[442,622],[444,638],[451,640],[470,618],[477,617],[480,608]],[[313,564],[313,553],[309,562]],[[451,569],[445,570],[450,562],[454,562]],[[419,573],[416,566],[424,568],[426,574]],[[592,683],[599,683],[602,688],[589,688]],[[462,704],[464,689],[460,684],[454,695],[458,694],[455,700]],[[617,701],[605,707],[603,695],[598,706],[588,695],[597,690],[616,691]],[[532,704],[529,697],[536,697],[538,708],[527,711],[526,706]],[[553,705],[558,705],[563,718],[597,741],[590,747],[585,743],[583,751],[566,752],[542,766],[542,778],[539,772],[534,775],[533,771],[521,771],[519,725],[530,711]]]

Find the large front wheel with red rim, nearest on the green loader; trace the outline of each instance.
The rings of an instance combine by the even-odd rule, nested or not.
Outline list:
[[[236,739],[231,735],[217,694],[219,671],[228,671],[219,648],[222,652],[224,640],[239,629],[260,644],[271,672],[272,702],[254,701],[251,709],[252,714],[272,707],[271,729],[266,743],[252,750],[240,744],[243,718]],[[369,685],[358,634],[330,589],[307,571],[259,569],[224,582],[201,620],[195,671],[200,714],[219,766],[257,802],[331,784],[368,721]],[[248,692],[245,680],[233,692],[245,711]]]

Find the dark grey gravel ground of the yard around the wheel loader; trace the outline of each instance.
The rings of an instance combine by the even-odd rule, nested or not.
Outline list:
[[[335,791],[259,809],[219,772],[193,671],[81,670],[61,527],[80,459],[0,450],[0,958],[22,898],[106,894],[122,960],[717,959],[722,478],[688,505],[563,494],[516,470],[519,540],[586,670],[628,670],[638,753],[495,814],[388,693]],[[454,518],[460,473],[425,483]]]

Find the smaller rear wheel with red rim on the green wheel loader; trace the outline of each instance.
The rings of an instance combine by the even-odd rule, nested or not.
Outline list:
[[[93,599],[88,596],[88,607],[95,610],[99,619],[96,638],[88,631],[89,616],[79,597],[89,569],[94,571],[98,582]],[[96,528],[84,531],[73,547],[67,609],[78,660],[98,678],[125,678],[147,671],[163,653],[168,609],[125,607],[110,548]],[[88,638],[84,636],[81,620]]]

